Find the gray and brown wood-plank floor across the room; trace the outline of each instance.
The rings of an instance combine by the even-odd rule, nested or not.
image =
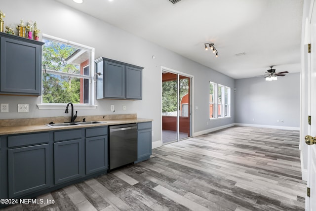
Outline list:
[[[230,127],[153,150],[145,162],[5,210],[303,211],[299,132]]]

